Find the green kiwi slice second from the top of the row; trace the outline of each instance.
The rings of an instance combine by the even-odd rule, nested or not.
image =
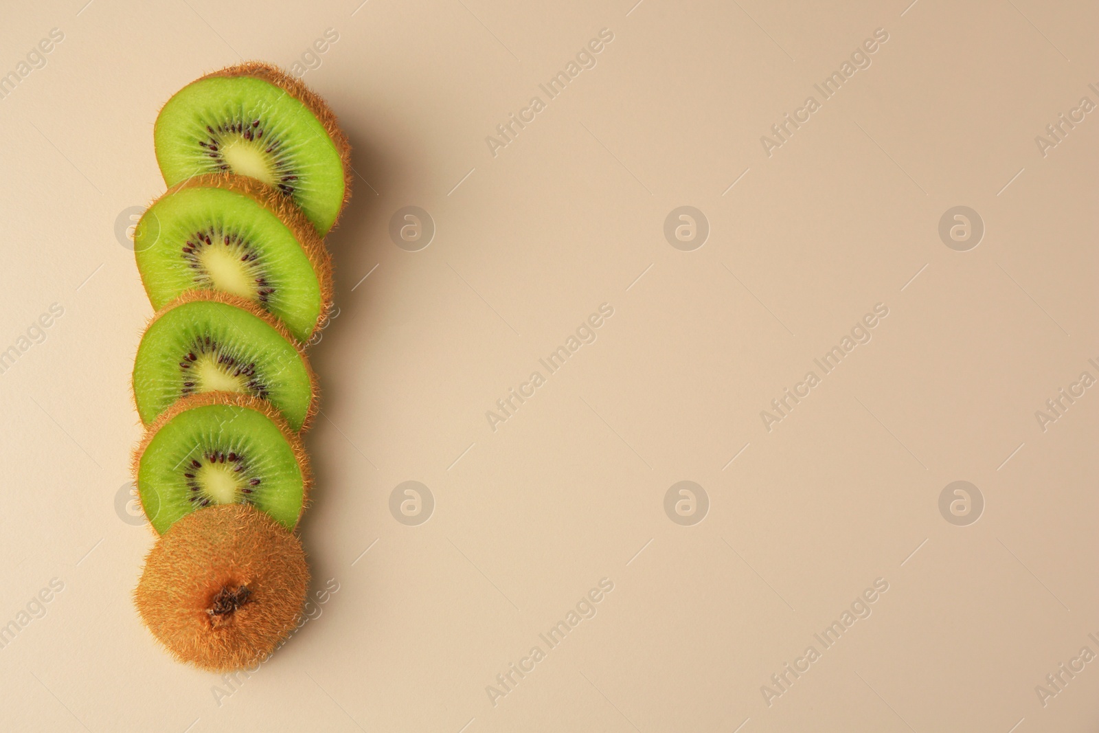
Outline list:
[[[191,288],[220,290],[255,302],[304,343],[332,306],[332,262],[312,224],[245,176],[173,186],[137,222],[134,255],[157,310]]]

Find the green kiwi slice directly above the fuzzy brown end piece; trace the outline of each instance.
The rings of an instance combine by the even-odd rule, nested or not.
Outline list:
[[[142,509],[158,534],[211,504],[251,504],[288,530],[306,508],[309,457],[264,400],[233,392],[184,397],[134,451]]]

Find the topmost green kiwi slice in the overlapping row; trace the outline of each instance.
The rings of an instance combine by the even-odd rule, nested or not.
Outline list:
[[[233,171],[301,207],[321,236],[351,195],[351,145],[323,99],[268,64],[230,66],[192,81],[153,129],[168,186]]]

